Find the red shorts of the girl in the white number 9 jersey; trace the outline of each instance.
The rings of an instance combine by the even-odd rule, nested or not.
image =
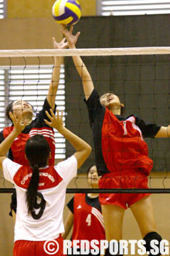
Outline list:
[[[49,256],[52,253],[54,256],[64,255],[63,237],[59,236],[48,243],[47,241],[16,240],[13,248],[13,256]]]

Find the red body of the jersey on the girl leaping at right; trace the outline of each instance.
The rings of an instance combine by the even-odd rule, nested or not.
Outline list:
[[[104,161],[110,172],[120,174],[140,168],[149,175],[153,161],[148,157],[148,146],[134,116],[120,121],[106,109],[101,140]]]

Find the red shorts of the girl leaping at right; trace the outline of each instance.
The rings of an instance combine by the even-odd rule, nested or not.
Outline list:
[[[100,189],[148,189],[148,178],[140,171],[124,171],[121,175],[114,173],[107,173],[99,180]],[[148,193],[113,193],[113,194],[100,194],[99,201],[101,205],[116,205],[121,208],[127,209],[138,202]]]

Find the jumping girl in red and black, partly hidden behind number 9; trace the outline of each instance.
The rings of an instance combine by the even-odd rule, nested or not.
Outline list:
[[[68,43],[65,42],[65,39],[61,40],[60,43],[56,43],[55,38],[53,37],[53,47],[55,49],[64,49],[66,48]],[[56,92],[59,85],[59,73],[60,73],[60,65],[62,58],[54,57],[54,66],[53,66],[53,74],[51,78],[51,82],[49,85],[49,90],[42,106],[42,110],[36,115],[36,119],[33,118],[33,109],[29,102],[23,101],[22,99],[15,100],[8,104],[6,108],[6,117],[10,121],[11,118],[9,116],[9,112],[15,112],[16,116],[19,116],[22,113],[22,120],[26,120],[26,127],[22,130],[22,133],[19,134],[19,137],[15,139],[12,143],[8,151],[8,158],[12,161],[15,161],[18,164],[29,164],[25,157],[25,145],[26,141],[29,137],[32,137],[35,134],[42,134],[46,137],[46,140],[49,143],[49,147],[51,150],[51,157],[49,159],[49,165],[54,164],[55,157],[55,140],[54,140],[54,132],[53,128],[49,127],[45,122],[46,119],[46,110],[49,109],[56,110],[55,100],[56,100]],[[0,143],[8,137],[8,134],[12,132],[14,129],[13,123],[12,126],[5,127],[4,130],[0,132]],[[11,202],[11,216],[14,216],[16,212],[16,195],[12,194],[12,202]]]

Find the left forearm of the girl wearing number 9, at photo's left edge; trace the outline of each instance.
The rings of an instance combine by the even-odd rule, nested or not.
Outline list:
[[[19,136],[19,133],[14,129],[12,130],[12,133],[8,135],[8,137],[5,138],[5,140],[2,141],[0,144],[0,156],[3,157],[7,154],[9,148],[12,146],[13,141],[16,137]]]

